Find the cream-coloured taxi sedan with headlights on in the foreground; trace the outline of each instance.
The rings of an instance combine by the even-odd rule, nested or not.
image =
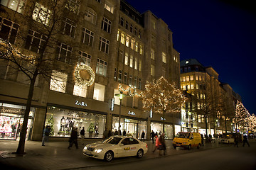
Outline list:
[[[117,157],[137,156],[141,158],[148,151],[145,142],[141,142],[134,137],[112,136],[102,142],[88,144],[82,149],[82,153],[87,157],[105,159],[110,162]]]

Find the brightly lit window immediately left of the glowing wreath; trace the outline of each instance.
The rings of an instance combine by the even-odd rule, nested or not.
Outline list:
[[[50,90],[65,93],[67,79],[68,79],[68,74],[53,70],[53,73],[50,79]]]

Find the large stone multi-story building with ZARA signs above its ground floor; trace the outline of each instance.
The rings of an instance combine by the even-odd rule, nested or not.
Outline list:
[[[1,1],[0,38],[23,55],[54,58],[49,76],[36,79],[28,139],[41,140],[49,123],[55,139],[68,137],[73,126],[87,132],[92,125],[99,133],[94,137],[102,137],[105,130],[118,129],[119,114],[121,130],[134,137],[140,137],[142,130],[148,139],[151,130],[162,131],[161,115],[143,111],[139,94],[146,81],[161,76],[180,86],[179,53],[168,25],[151,11],[139,13],[124,0],[68,0],[58,8],[63,15],[51,38],[57,42],[42,53],[48,42],[42,30],[52,26],[53,2]],[[14,64],[3,59],[0,63],[0,123],[5,127],[1,138],[16,139],[30,81]],[[127,94],[121,113],[114,95],[120,91]],[[180,114],[166,115],[168,138],[181,130],[180,122]]]

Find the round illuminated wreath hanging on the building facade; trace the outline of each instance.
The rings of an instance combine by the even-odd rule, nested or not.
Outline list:
[[[80,71],[82,69],[85,69],[85,71],[87,71],[90,74],[90,79],[88,81],[80,77]],[[81,88],[83,88],[84,86],[91,86],[95,81],[95,73],[93,72],[90,66],[87,66],[85,64],[82,64],[82,63],[78,64],[78,66],[75,68],[74,74],[75,74],[76,84],[78,84],[78,86],[80,86]]]

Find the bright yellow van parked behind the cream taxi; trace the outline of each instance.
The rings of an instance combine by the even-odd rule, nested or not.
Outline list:
[[[191,147],[201,147],[201,135],[198,132],[178,132],[176,137],[173,140],[174,149],[176,147],[184,147],[191,149]]]

